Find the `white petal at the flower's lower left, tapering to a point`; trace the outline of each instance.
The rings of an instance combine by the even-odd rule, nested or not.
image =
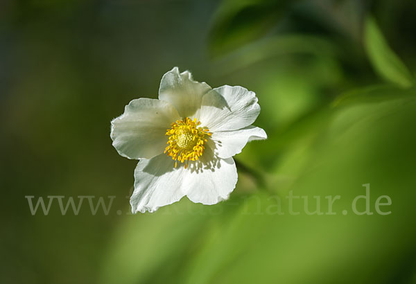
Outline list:
[[[178,165],[179,166],[179,165]],[[132,212],[153,212],[161,206],[179,201],[184,195],[183,182],[189,170],[166,154],[141,160],[135,170],[135,191],[130,198]]]

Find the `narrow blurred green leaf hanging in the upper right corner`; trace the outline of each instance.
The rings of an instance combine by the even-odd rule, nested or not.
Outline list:
[[[372,17],[368,17],[365,21],[364,43],[370,61],[381,77],[401,87],[413,85],[414,78],[410,71],[388,46],[379,26]]]

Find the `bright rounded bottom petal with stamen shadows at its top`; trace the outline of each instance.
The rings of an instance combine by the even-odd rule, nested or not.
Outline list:
[[[200,162],[191,164],[188,168],[184,187],[191,202],[216,204],[228,199],[237,182],[236,164],[232,158],[220,159],[206,148]]]

